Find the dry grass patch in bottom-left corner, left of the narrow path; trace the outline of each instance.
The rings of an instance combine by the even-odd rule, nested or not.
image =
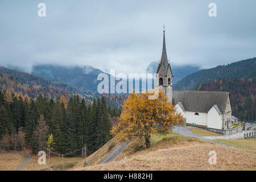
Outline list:
[[[0,171],[13,171],[26,159],[23,151],[0,152]]]

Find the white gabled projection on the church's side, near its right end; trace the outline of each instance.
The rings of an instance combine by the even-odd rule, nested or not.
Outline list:
[[[218,111],[215,109],[215,107],[212,107],[208,111],[207,121],[207,127],[212,129],[222,129],[222,115],[218,114]]]

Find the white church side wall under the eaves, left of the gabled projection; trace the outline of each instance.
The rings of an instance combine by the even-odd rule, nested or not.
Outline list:
[[[187,123],[196,123],[196,125],[207,126],[207,113],[199,113],[195,115],[196,112],[185,111],[184,117]]]

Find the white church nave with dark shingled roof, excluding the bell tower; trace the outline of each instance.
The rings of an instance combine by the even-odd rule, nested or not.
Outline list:
[[[186,123],[227,130],[232,127],[232,107],[228,92],[176,91],[173,104]]]

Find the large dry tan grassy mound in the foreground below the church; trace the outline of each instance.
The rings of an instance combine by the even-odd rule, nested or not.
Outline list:
[[[209,152],[217,152],[210,165]],[[127,154],[127,153],[126,153]],[[86,170],[256,170],[256,152],[202,142],[192,137],[164,138],[152,148]],[[77,168],[85,170],[85,168]]]

